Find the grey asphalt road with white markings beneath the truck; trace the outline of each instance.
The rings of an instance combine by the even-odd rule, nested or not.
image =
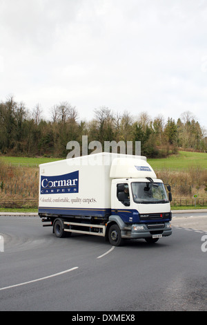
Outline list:
[[[58,239],[38,216],[0,216],[0,310],[207,310],[207,214],[173,214],[172,236],[112,247]]]

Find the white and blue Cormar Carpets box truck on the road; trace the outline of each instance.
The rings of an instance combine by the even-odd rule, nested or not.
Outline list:
[[[116,246],[124,239],[155,243],[172,233],[166,187],[144,156],[101,153],[41,164],[39,216],[57,237],[77,232]]]

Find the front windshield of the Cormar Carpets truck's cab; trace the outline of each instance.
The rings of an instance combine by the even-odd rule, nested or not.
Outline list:
[[[163,183],[132,182],[132,197],[135,203],[168,203]]]

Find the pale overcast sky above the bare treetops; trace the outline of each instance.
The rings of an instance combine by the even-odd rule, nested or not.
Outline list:
[[[0,101],[63,101],[207,129],[206,0],[0,0]]]

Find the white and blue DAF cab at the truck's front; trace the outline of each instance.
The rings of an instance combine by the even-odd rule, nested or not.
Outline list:
[[[122,175],[128,177],[117,178]],[[146,160],[140,160],[139,166],[135,160],[114,161],[110,176],[113,179],[109,221],[119,224],[122,239],[144,238],[155,243],[162,236],[172,234],[170,185],[165,186],[157,179]]]

